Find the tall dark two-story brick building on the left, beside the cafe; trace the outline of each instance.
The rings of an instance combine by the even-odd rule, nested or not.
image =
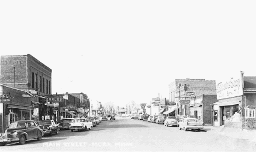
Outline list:
[[[19,101],[11,100],[8,103],[9,110],[14,111],[15,114],[7,115],[4,121],[19,119],[18,114],[22,110],[27,109],[27,106],[23,105],[24,101],[29,101],[31,102],[30,104],[33,104],[30,119],[36,121],[45,119],[47,109],[44,105],[46,104],[47,96],[51,95],[51,72],[48,66],[45,66],[30,54],[1,56],[0,82],[4,87],[8,86],[11,88],[4,93],[13,95],[16,89],[18,89],[19,98],[21,98]],[[4,108],[7,107],[7,103],[0,104],[3,107],[3,109],[0,109],[5,111]]]

